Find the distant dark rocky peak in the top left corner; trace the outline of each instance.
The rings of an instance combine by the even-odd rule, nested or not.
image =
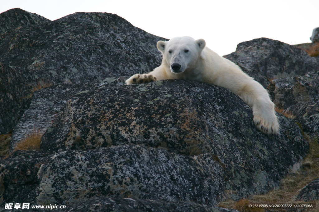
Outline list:
[[[18,27],[48,24],[50,22],[49,19],[35,13],[15,8],[0,14],[0,34]]]

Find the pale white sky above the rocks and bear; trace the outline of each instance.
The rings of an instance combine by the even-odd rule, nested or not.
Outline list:
[[[319,0],[0,0],[0,13],[17,7],[50,20],[74,12],[115,13],[164,38],[203,38],[219,55],[261,37],[309,43],[312,30],[319,27]]]

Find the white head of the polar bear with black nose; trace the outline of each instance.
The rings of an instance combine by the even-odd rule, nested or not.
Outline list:
[[[163,60],[169,65],[172,73],[182,73],[194,69],[197,60],[205,47],[205,40],[191,37],[176,37],[169,41],[158,41],[157,48],[163,54]]]

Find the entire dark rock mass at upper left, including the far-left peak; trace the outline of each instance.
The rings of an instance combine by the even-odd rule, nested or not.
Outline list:
[[[115,14],[75,13],[45,21],[12,9],[1,13],[1,18],[5,21],[0,23],[10,20],[6,26],[12,29],[0,35],[0,86],[5,91],[0,93],[0,134],[18,123],[35,86],[129,76],[150,71],[161,61],[156,42],[165,38]],[[25,25],[15,28],[21,23]]]

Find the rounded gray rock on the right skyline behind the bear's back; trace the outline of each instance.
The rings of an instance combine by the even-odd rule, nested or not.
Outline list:
[[[242,42],[235,52],[224,57],[239,65],[265,88],[273,79],[317,72],[319,67],[319,60],[305,51],[268,38]]]

